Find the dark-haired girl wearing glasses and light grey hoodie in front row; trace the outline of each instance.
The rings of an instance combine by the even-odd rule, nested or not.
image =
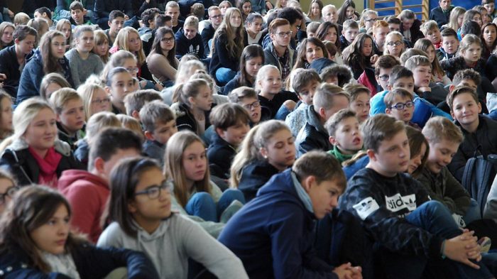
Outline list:
[[[218,278],[248,278],[241,261],[228,248],[195,222],[171,212],[170,184],[155,160],[124,160],[112,170],[110,181],[109,219],[113,223],[97,246],[145,253],[160,278],[187,278],[188,258]]]

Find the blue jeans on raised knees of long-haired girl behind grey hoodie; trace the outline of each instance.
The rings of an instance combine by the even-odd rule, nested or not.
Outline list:
[[[223,192],[223,195],[217,202],[214,202],[212,196],[208,192],[197,192],[190,200],[188,200],[185,210],[188,214],[204,219],[205,221],[219,221],[219,216],[231,202],[238,200],[245,204],[244,194],[240,190],[228,189]]]

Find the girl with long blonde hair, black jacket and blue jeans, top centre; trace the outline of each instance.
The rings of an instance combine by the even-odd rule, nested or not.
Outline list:
[[[214,48],[209,74],[219,85],[224,85],[238,72],[239,57],[244,50],[244,23],[239,9],[229,8],[226,11],[212,41]]]

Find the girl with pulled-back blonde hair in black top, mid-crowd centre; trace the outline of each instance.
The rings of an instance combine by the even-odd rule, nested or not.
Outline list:
[[[297,94],[282,90],[280,71],[274,65],[264,65],[257,72],[256,90],[261,106],[271,111],[271,119],[283,118],[293,111],[298,102]]]

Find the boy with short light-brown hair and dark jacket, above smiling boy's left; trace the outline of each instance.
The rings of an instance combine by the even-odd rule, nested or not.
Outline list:
[[[432,63],[429,58],[414,55],[405,61],[405,67],[413,72],[414,89],[420,97],[435,105],[444,101],[449,92],[442,85],[431,82]]]

